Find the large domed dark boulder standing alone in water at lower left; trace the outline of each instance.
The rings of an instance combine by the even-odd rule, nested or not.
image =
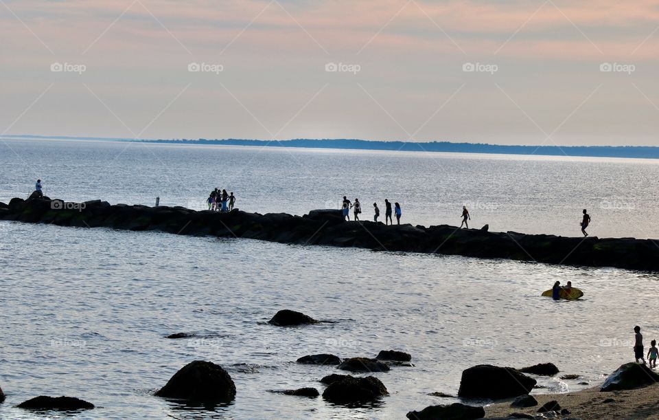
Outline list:
[[[222,366],[196,360],[176,372],[156,395],[188,401],[228,402],[235,397],[235,384]]]

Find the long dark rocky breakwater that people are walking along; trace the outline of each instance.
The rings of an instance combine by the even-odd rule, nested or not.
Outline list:
[[[343,221],[340,210],[312,210],[303,217],[194,211],[183,207],[148,207],[106,201],[71,203],[19,199],[0,203],[0,220],[53,223],[80,228],[160,230],[173,234],[261,239],[301,245],[362,247],[380,251],[423,252],[540,263],[659,270],[659,241],[633,238],[571,238],[516,232],[461,230],[454,226],[386,226],[371,221]]]

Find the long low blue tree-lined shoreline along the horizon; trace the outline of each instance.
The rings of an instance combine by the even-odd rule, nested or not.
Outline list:
[[[113,137],[68,137],[43,135],[5,135],[13,140],[95,140],[157,144],[332,148],[363,151],[405,151],[439,153],[485,153],[496,155],[539,155],[566,157],[618,157],[624,159],[659,159],[658,146],[524,146],[454,142],[384,142],[352,139],[130,139]]]

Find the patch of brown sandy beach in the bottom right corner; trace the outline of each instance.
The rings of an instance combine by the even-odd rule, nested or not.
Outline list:
[[[537,409],[556,400],[567,408],[573,419],[659,419],[659,384],[635,390],[602,393],[599,386],[575,393],[533,395],[538,405],[529,408],[511,408],[510,402],[485,407],[486,417],[506,417],[513,412],[537,415]],[[604,402],[614,399],[613,402]]]

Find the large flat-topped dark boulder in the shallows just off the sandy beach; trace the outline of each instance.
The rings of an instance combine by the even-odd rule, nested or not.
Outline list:
[[[514,368],[481,364],[465,369],[458,397],[503,399],[528,394],[535,379]]]

